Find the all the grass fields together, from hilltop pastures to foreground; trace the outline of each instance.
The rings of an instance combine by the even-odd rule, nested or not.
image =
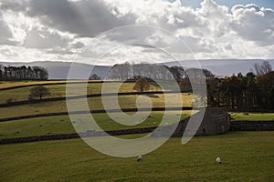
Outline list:
[[[45,83],[63,83],[47,81]],[[1,87],[43,84],[44,82],[5,82]],[[108,83],[111,84],[115,83]],[[75,85],[75,95],[79,84]],[[119,92],[131,92],[132,83],[125,83]],[[65,96],[66,85],[46,86],[51,97]],[[31,86],[0,91],[0,103],[12,98],[26,100]],[[101,84],[88,85],[88,94],[100,93]],[[157,90],[153,87],[152,90]],[[112,90],[108,90],[112,92]],[[74,94],[72,94],[74,96]],[[170,106],[175,106],[176,97],[169,95]],[[121,108],[135,108],[138,96],[119,96]],[[142,98],[144,96],[141,96]],[[163,95],[149,96],[154,107],[165,106]],[[194,96],[182,94],[183,106],[192,106]],[[117,108],[113,96],[105,97],[110,108]],[[82,110],[82,100],[73,99],[76,110]],[[100,97],[88,98],[91,110],[103,109]],[[147,102],[148,103],[148,102]],[[146,105],[145,105],[146,106]],[[0,108],[0,118],[66,112],[66,101],[42,102]],[[168,111],[166,123],[174,123],[174,116],[181,119],[193,115],[192,111]],[[133,115],[134,113],[127,113]],[[23,136],[41,136],[75,133],[75,128],[85,132],[98,130],[90,124],[87,115],[45,116],[0,123],[0,139]],[[107,114],[93,114],[97,124],[105,131],[125,128],[158,126],[163,112],[132,126],[116,123]],[[274,113],[231,113],[234,120],[273,120]],[[116,119],[122,119],[118,114]],[[144,134],[142,134],[144,135]],[[117,136],[136,138],[142,135]],[[99,138],[100,137],[96,137]],[[94,138],[91,138],[94,139]],[[272,181],[274,178],[274,132],[229,132],[218,136],[196,136],[182,145],[180,137],[170,138],[162,147],[144,155],[142,162],[136,157],[109,157],[95,151],[80,138],[56,141],[41,141],[23,144],[0,145],[0,181]],[[222,165],[216,164],[221,157]]]

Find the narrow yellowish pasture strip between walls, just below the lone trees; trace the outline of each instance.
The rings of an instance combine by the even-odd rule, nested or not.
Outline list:
[[[136,98],[138,96],[132,95],[132,96],[119,96],[118,97],[118,103],[121,108],[136,108],[138,106],[138,103],[136,105]],[[142,103],[145,104],[145,102],[149,103],[149,100],[151,99],[153,106],[165,106],[165,98],[163,95],[153,95],[150,97],[147,96],[140,96],[143,99],[146,99],[142,101]],[[116,98],[114,96],[105,96],[106,102],[108,103],[107,106],[109,108],[118,108],[117,104],[115,104]],[[168,100],[168,106],[177,106],[174,101],[173,95],[170,95],[170,98]],[[192,106],[193,96],[189,94],[182,94],[182,103],[183,106]],[[79,111],[79,110],[86,110],[86,108],[83,107],[83,103],[86,101],[83,99],[73,99],[71,100],[73,110]],[[101,97],[90,97],[88,98],[88,104],[89,108],[91,110],[98,110],[103,109],[106,106],[103,106]],[[147,107],[147,105],[144,105],[143,107]],[[59,113],[59,112],[67,112],[67,104],[66,100],[63,101],[52,101],[52,102],[41,102],[37,104],[26,104],[26,105],[20,105],[20,106],[8,106],[8,107],[0,107],[0,118],[5,117],[13,117],[13,116],[26,116],[26,115],[37,115],[37,114],[45,114],[45,113]]]

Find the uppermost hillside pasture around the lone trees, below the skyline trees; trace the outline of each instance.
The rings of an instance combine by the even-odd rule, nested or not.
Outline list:
[[[70,83],[77,81],[69,81]],[[78,81],[79,82],[79,81]],[[3,83],[3,82],[2,82]],[[24,84],[25,83],[25,84]],[[0,90],[0,104],[7,102],[17,102],[27,100],[30,94],[30,89],[34,86],[27,86],[31,84],[58,84],[65,83],[64,81],[41,81],[41,82],[4,82],[0,84],[2,87],[11,87],[11,86],[26,86],[21,88],[13,88],[9,90]],[[115,87],[120,86],[118,90]],[[49,85],[45,86],[51,92],[50,96],[45,96],[44,98],[56,98],[66,96],[66,86],[67,85]],[[102,86],[105,88],[103,93],[124,93],[124,92],[133,92],[132,87],[134,83],[117,83],[117,82],[105,82],[104,84],[98,83],[96,81],[88,82],[87,86],[83,83],[71,84],[69,85],[69,96],[81,96],[81,95],[91,95],[91,94],[100,94],[102,92]],[[161,91],[162,89],[151,83],[149,91]]]

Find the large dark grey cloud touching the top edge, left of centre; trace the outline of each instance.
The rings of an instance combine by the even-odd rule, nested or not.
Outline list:
[[[97,0],[32,0],[27,14],[39,17],[45,25],[79,36],[92,37],[119,25],[134,23],[133,15],[118,18],[103,1]]]

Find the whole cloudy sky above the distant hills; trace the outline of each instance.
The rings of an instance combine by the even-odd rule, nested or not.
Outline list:
[[[0,0],[0,61],[274,58],[272,0]]]

